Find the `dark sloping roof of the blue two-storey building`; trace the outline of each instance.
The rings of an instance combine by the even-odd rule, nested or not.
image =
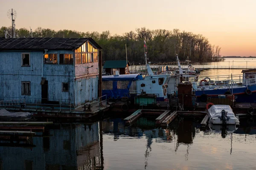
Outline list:
[[[102,49],[92,38],[0,38],[3,50],[74,50],[89,40],[96,48]]]

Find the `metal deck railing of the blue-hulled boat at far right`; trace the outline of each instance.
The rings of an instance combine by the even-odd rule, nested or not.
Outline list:
[[[243,75],[232,75],[232,76],[215,76],[206,77],[201,79],[200,82],[194,82],[193,88],[204,88],[207,86],[208,88],[218,88],[218,87],[230,87],[232,86],[251,86],[256,85],[256,75],[250,75],[250,77],[243,78]]]

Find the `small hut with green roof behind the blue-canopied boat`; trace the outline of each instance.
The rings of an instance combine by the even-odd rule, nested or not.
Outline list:
[[[115,70],[119,71],[119,74],[129,74],[129,66],[130,63],[126,60],[108,60],[103,68],[109,75],[113,75]]]

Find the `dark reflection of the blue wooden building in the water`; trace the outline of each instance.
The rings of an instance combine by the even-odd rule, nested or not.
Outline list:
[[[0,170],[103,169],[99,123],[54,128],[32,138],[36,147],[0,147]]]

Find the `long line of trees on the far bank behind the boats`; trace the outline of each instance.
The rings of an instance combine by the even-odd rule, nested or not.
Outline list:
[[[9,34],[12,27],[1,27],[0,37]],[[145,27],[136,28],[135,31],[126,32],[122,35],[111,35],[110,31],[79,32],[72,30],[55,31],[50,28],[38,27],[31,32],[27,28],[15,30],[16,37],[65,37],[79,38],[92,37],[102,48],[103,61],[125,60],[127,45],[127,57],[130,63],[144,63],[144,40],[147,46],[147,57],[151,63],[173,62],[176,54],[181,61],[187,57],[193,62],[223,61],[219,46],[211,45],[209,40],[201,34],[165,29],[149,30]]]

